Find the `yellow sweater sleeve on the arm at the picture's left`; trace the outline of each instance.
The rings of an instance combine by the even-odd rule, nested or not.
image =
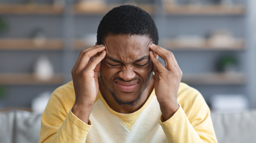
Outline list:
[[[92,123],[89,120],[86,124],[72,113],[74,102],[70,91],[60,87],[53,92],[42,114],[39,143],[85,142]]]

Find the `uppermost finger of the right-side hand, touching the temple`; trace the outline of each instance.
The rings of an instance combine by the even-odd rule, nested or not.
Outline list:
[[[153,45],[151,44],[149,49],[153,52],[155,52],[157,55],[159,55],[163,60],[164,60],[164,63],[165,63],[165,68],[168,69],[168,70],[175,70],[175,65],[174,65],[174,62],[172,60],[172,53],[170,52],[165,52],[164,50],[162,50],[163,48],[161,48],[160,46],[157,46],[157,45]]]

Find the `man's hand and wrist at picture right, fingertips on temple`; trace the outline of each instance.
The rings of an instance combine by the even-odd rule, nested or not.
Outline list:
[[[181,83],[182,71],[172,52],[151,44],[149,49],[150,58],[153,62],[155,72],[155,92],[164,121],[170,119],[178,110],[177,95]],[[165,63],[165,67],[158,60],[160,56]]]

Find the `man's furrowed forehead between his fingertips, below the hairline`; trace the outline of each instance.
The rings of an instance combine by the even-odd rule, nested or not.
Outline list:
[[[121,61],[133,61],[142,56],[149,56],[152,40],[139,35],[109,35],[105,38],[106,57]]]

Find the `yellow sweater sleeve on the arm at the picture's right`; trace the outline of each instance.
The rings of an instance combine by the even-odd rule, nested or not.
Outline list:
[[[195,89],[188,89],[178,94],[178,98],[180,107],[176,113],[166,121],[162,115],[159,119],[168,142],[217,143],[210,109],[203,96]]]

